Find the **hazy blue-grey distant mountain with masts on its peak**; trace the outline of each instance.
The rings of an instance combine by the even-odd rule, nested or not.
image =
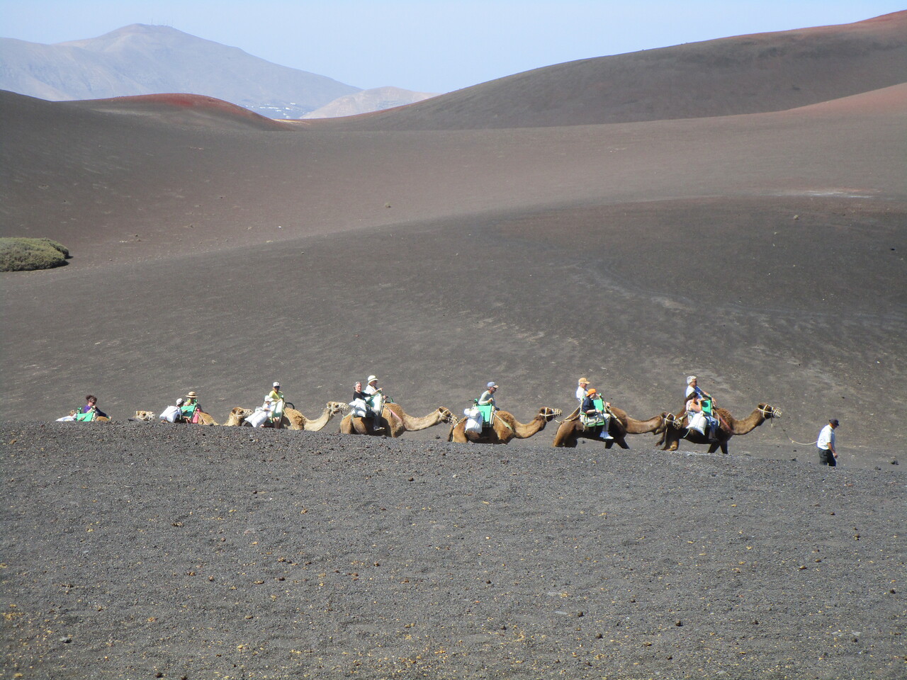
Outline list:
[[[359,92],[237,47],[144,24],[59,44],[0,38],[0,89],[52,101],[185,92],[270,118],[299,118]]]

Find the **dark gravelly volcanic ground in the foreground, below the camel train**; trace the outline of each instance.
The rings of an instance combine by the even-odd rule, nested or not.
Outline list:
[[[899,466],[145,423],[0,440],[7,677],[904,674]]]

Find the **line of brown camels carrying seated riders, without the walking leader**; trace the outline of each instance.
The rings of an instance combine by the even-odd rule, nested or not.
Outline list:
[[[528,439],[542,430],[563,413],[561,409],[542,406],[529,423],[521,423],[512,413],[503,411],[495,403],[498,385],[486,385],[482,395],[473,399],[471,406],[458,418],[449,409],[439,406],[424,416],[406,413],[403,407],[385,396],[378,387],[375,375],[369,375],[366,385],[356,383],[353,401],[327,402],[320,415],[308,418],[287,401],[280,384],[274,383],[264,402],[254,409],[237,406],[230,410],[228,427],[270,427],[274,429],[324,430],[337,414],[342,413],[339,432],[367,436],[400,437],[405,432],[418,432],[435,425],[448,426],[447,441],[457,443],[506,444],[514,439]],[[677,451],[681,441],[705,445],[709,453],[727,453],[727,442],[733,436],[752,432],[767,420],[780,418],[781,410],[767,403],[759,403],[746,418],[737,420],[727,409],[718,408],[711,394],[698,385],[697,377],[687,378],[684,406],[677,413],[662,412],[646,420],[637,420],[626,411],[605,401],[601,393],[590,387],[587,378],[577,383],[576,399],[579,405],[566,418],[556,421],[557,431],[552,446],[575,448],[580,439],[602,442],[606,449],[617,444],[629,449],[628,434],[652,433],[664,451]],[[59,421],[91,423],[109,421],[106,413],[98,409],[97,398],[89,394],[86,404],[73,410]],[[347,413],[348,412],[348,413]],[[197,393],[190,392],[161,413],[136,411],[130,420],[172,424],[217,425],[210,413],[200,406]]]

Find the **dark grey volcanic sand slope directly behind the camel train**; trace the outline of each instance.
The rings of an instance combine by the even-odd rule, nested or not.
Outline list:
[[[502,408],[526,422],[541,406],[569,413],[588,374],[649,418],[679,407],[692,373],[738,418],[763,402],[783,411],[731,452],[802,455],[810,447],[794,442],[838,417],[847,464],[872,467],[907,434],[905,214],[857,199],[659,201],[11,281],[21,294],[5,318],[30,339],[5,336],[7,413],[51,420],[92,392],[123,420],[193,389],[222,423],[277,379],[311,417],[375,373],[417,416],[462,413],[493,379]],[[68,294],[83,288],[96,306]],[[161,296],[169,289],[188,293]]]

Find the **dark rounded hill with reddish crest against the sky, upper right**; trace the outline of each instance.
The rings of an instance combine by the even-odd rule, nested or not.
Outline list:
[[[518,73],[329,129],[457,130],[785,111],[907,82],[907,12]]]

